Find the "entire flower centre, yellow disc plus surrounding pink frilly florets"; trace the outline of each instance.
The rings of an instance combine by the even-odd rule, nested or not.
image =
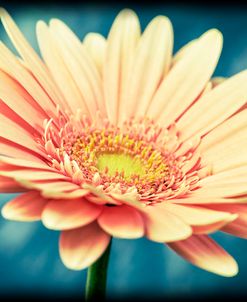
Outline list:
[[[79,113],[60,123],[58,131],[47,122],[41,143],[52,166],[82,187],[109,195],[134,192],[141,201],[155,203],[189,194],[198,186],[198,171],[207,173],[198,145],[180,142],[175,125],[166,129],[142,118],[118,127]]]

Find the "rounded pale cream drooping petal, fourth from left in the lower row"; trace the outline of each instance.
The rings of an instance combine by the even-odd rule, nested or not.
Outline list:
[[[147,206],[142,210],[146,236],[157,242],[171,242],[188,238],[191,228],[178,216],[157,206]]]

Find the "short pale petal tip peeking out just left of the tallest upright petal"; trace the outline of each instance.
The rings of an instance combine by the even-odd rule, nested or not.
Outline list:
[[[106,39],[98,33],[89,33],[83,39],[83,45],[93,59],[100,75],[103,75],[103,64],[106,53]]]

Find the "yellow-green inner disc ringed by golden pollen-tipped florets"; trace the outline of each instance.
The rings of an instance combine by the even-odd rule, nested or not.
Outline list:
[[[101,177],[122,180],[129,184],[150,182],[164,177],[167,166],[160,152],[133,134],[115,130],[94,130],[77,138],[71,158],[80,168]]]

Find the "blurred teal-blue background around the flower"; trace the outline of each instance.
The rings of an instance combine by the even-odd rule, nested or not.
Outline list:
[[[165,2],[165,1],[164,1]],[[168,16],[174,27],[176,52],[182,45],[210,28],[224,35],[223,53],[216,76],[231,76],[247,68],[247,8],[240,5],[189,5],[154,3],[18,3],[6,2],[22,32],[37,50],[35,23],[56,17],[66,22],[82,39],[88,32],[107,35],[124,7],[134,9],[142,27],[156,15]],[[0,38],[12,48],[3,28]],[[13,48],[12,48],[13,49]],[[210,55],[210,54],[208,54]],[[246,83],[247,85],[247,83]],[[0,206],[13,195],[0,194]],[[237,260],[240,272],[223,278],[185,262],[162,244],[139,240],[113,240],[109,265],[108,297],[199,298],[247,293],[247,240],[217,233],[218,240]],[[66,269],[58,255],[58,233],[41,223],[8,222],[0,217],[0,296],[13,293],[62,298],[83,295],[86,271]]]

